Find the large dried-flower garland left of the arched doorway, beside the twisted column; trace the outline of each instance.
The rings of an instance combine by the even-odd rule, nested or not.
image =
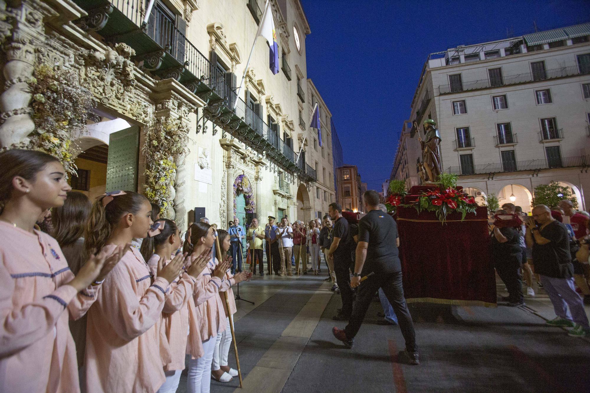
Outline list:
[[[65,171],[75,174],[71,135],[86,130],[94,96],[80,86],[74,71],[54,70],[47,64],[36,66],[27,84],[31,89],[31,117],[35,123],[27,148],[56,157]]]

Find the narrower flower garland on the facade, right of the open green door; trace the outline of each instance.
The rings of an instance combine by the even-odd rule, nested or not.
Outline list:
[[[150,201],[162,208],[163,218],[171,217],[175,162],[189,152],[188,131],[188,126],[171,117],[158,117],[146,129],[142,148],[146,157],[144,192]]]

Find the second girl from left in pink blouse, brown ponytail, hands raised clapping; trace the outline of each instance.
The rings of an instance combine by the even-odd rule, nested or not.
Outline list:
[[[109,252],[133,238],[144,238],[153,224],[152,206],[132,191],[113,191],[94,202],[86,251]],[[178,277],[186,255],[179,254],[153,279],[136,248],[104,281],[88,313],[86,388],[89,393],[154,393],[165,382],[159,326],[169,283]],[[165,351],[165,348],[163,348]]]

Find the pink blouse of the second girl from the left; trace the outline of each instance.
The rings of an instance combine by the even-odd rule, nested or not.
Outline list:
[[[114,250],[110,244],[104,246]],[[104,249],[103,248],[103,249]],[[165,381],[159,324],[168,281],[152,284],[148,265],[136,248],[128,251],[104,280],[88,313],[86,387],[89,393],[156,392]]]

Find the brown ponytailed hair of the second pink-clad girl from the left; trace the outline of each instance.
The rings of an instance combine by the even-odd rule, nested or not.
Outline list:
[[[104,198],[109,198],[110,201],[105,202]],[[119,224],[120,218],[129,213],[137,214],[145,202],[149,202],[148,198],[133,191],[124,191],[124,194],[119,195],[107,196],[104,194],[99,196],[92,205],[90,218],[86,225],[86,236],[84,237],[86,256],[98,254],[106,241],[109,240],[113,229]]]

